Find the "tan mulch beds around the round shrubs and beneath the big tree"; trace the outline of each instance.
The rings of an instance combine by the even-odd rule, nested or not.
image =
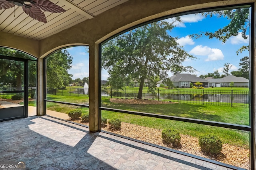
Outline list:
[[[174,103],[171,101],[162,102],[162,101],[156,101],[156,100],[142,100],[142,99],[110,99],[110,101],[114,103],[126,103],[126,104],[173,104]],[[81,120],[76,120],[74,122],[89,126],[89,123],[82,122]],[[143,127],[139,125],[122,122],[122,126],[120,130],[112,130],[109,128],[108,125],[105,127],[102,127],[102,130],[113,132],[115,134],[134,138],[144,142],[156,144],[159,146],[173,148],[172,146],[166,145],[163,143],[162,130],[160,129],[148,128],[148,127]],[[233,166],[238,166],[240,168],[249,169],[249,150],[248,149],[238,147],[238,146],[232,146],[230,144],[223,144],[222,152],[220,154],[207,155],[206,153],[201,151],[200,146],[198,144],[198,138],[184,135],[184,134],[180,134],[180,136],[181,136],[182,146],[179,148],[173,148],[175,150],[179,150],[189,154],[194,154],[204,158],[209,158],[209,159],[230,164]]]

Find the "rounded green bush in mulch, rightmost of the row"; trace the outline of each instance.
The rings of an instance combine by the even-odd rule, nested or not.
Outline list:
[[[222,141],[212,134],[200,136],[199,145],[201,150],[207,154],[218,154],[222,151]]]

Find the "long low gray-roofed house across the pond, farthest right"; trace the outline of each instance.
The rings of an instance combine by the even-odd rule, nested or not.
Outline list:
[[[236,77],[234,75],[228,75],[220,79],[207,79],[209,81],[209,87],[230,87],[230,83],[233,82],[237,87],[248,87],[249,80],[244,77]]]

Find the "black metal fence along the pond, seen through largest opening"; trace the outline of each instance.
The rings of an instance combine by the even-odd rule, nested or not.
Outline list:
[[[108,98],[136,99],[138,89],[102,89],[102,96]],[[142,99],[194,103],[201,105],[222,105],[231,107],[248,107],[249,91],[238,90],[204,90],[204,89],[156,89],[148,92],[143,89]]]

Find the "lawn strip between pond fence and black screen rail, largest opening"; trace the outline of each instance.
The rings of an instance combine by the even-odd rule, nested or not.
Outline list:
[[[111,103],[109,99],[102,98],[102,107],[187,117],[208,121],[218,121],[239,125],[249,125],[249,109],[244,107],[228,107],[216,105],[196,104],[162,104],[162,105],[134,105]]]

